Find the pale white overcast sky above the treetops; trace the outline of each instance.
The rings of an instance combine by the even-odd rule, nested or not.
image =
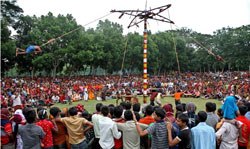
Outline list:
[[[250,0],[18,0],[17,4],[24,10],[24,15],[47,15],[52,12],[58,14],[72,14],[80,25],[96,20],[113,9],[116,10],[145,10],[167,4],[170,19],[179,28],[186,27],[203,34],[213,34],[223,27],[240,27],[250,24]],[[168,11],[162,13],[168,17]],[[127,29],[132,17],[123,16],[118,19],[119,13],[112,13],[102,20],[108,19],[121,24],[124,34],[128,32],[143,33],[143,23],[139,27]],[[96,28],[98,21],[84,26]],[[175,26],[172,26],[176,29]],[[170,30],[170,24],[148,21],[148,29],[153,33]]]

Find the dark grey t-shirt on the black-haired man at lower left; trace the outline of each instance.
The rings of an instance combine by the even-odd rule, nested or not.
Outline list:
[[[18,133],[23,140],[23,149],[40,149],[41,139],[44,138],[45,133],[43,129],[35,123],[26,124],[18,128]]]

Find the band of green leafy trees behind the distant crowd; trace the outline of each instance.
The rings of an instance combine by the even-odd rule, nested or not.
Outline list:
[[[1,1],[1,73],[16,68],[19,74],[45,72],[47,75],[142,73],[143,36],[137,32],[123,34],[122,25],[110,20],[99,21],[96,28],[85,29],[68,14],[24,16],[15,1]],[[16,34],[11,36],[10,27]],[[41,54],[15,56],[17,47],[42,45],[78,27],[81,29],[42,46]],[[173,37],[174,36],[174,40]],[[191,38],[192,37],[192,38]],[[199,41],[197,44],[193,39]],[[248,70],[250,65],[250,25],[222,28],[213,35],[201,34],[187,28],[150,33],[148,35],[148,72],[160,74],[177,71],[174,42],[182,72]],[[206,49],[224,58],[225,64],[209,55]],[[80,73],[82,72],[82,73]]]

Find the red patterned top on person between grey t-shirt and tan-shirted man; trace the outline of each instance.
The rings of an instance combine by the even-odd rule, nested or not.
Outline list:
[[[52,124],[52,122],[47,120],[40,120],[36,123],[36,125],[42,127],[43,131],[46,134],[45,137],[42,139],[44,147],[53,146],[52,130],[54,129],[54,125]]]

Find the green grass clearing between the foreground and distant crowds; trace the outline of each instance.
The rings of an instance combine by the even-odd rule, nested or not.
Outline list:
[[[139,101],[140,101],[140,103],[142,105],[143,98],[140,97]],[[109,104],[114,104],[115,105],[116,104],[115,102],[116,102],[116,99],[110,99],[110,100],[107,100],[107,101],[89,100],[87,102],[81,100],[81,101],[78,101],[78,102],[73,102],[71,105],[59,103],[59,104],[56,104],[54,106],[57,106],[58,108],[62,109],[62,108],[65,108],[65,107],[70,108],[72,106],[76,106],[77,104],[83,104],[84,108],[87,109],[89,113],[93,113],[95,111],[95,105],[97,103],[103,103],[104,105],[109,105]],[[171,103],[174,106],[174,109],[175,109],[175,102],[174,102],[173,97],[164,97],[164,98],[161,99],[161,102],[162,102],[162,105]],[[201,111],[201,110],[205,111],[206,102],[216,103],[217,109],[222,106],[222,103],[220,101],[216,100],[216,99],[181,98],[181,102],[182,103],[193,102],[197,107],[196,113]],[[148,104],[150,103],[149,98],[147,100],[147,103]]]

